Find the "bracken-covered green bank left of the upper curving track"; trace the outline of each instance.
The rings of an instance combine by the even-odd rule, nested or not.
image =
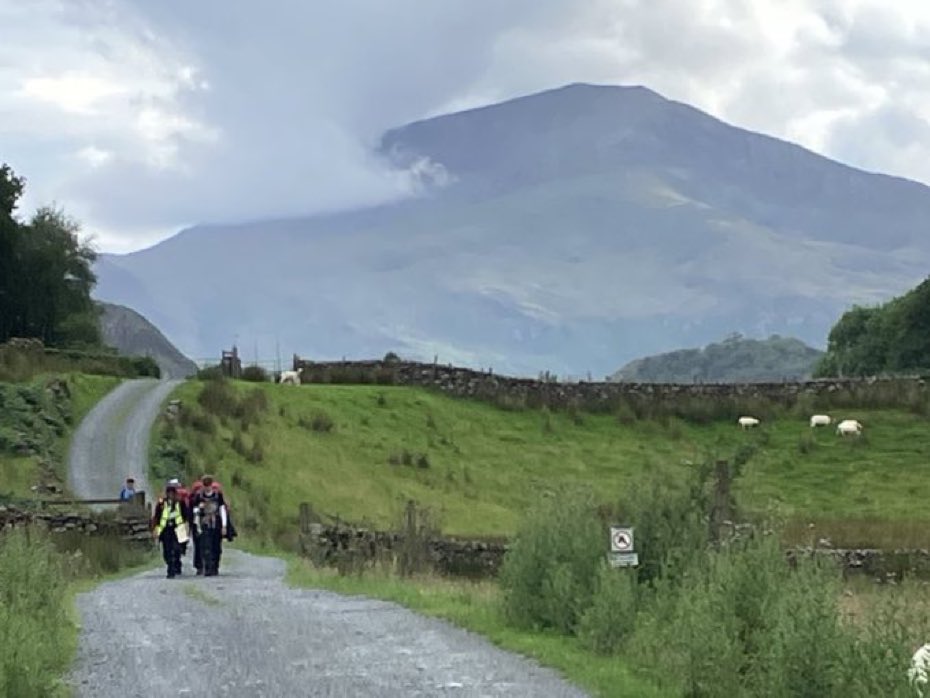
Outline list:
[[[82,374],[0,383],[0,500],[31,498],[36,485],[60,487],[74,427],[118,383]]]

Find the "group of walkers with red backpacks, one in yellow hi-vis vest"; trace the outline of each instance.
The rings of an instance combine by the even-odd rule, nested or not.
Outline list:
[[[152,516],[152,533],[161,543],[168,579],[181,574],[181,557],[194,545],[194,568],[198,575],[219,573],[223,539],[236,536],[223,487],[209,475],[194,482],[190,490],[177,478],[165,485]]]

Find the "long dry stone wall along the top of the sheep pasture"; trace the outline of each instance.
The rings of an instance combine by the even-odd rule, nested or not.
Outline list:
[[[432,388],[455,397],[495,402],[503,407],[612,409],[620,403],[715,403],[722,409],[790,407],[805,399],[812,405],[903,406],[928,400],[923,377],[827,379],[782,383],[613,383],[537,380],[499,376],[491,370],[410,361],[314,362],[294,357],[304,383],[407,385]]]

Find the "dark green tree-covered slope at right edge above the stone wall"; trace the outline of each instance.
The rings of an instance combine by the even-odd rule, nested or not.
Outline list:
[[[873,307],[856,306],[830,330],[818,376],[920,373],[930,369],[930,279]]]

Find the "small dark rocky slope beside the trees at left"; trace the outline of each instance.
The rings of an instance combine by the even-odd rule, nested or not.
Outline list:
[[[183,378],[197,372],[197,364],[135,310],[112,303],[100,303],[100,307],[100,331],[105,344],[120,354],[151,356],[163,378]]]

